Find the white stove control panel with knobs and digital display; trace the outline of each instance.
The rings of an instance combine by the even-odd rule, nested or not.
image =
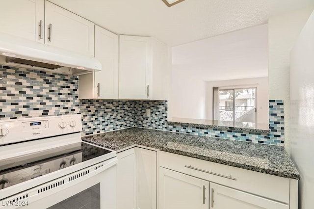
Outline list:
[[[82,131],[80,114],[0,121],[0,145]]]

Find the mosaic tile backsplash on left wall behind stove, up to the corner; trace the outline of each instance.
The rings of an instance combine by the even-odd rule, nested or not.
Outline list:
[[[78,100],[78,77],[0,66],[0,120],[81,113],[83,135],[133,127],[133,101]]]

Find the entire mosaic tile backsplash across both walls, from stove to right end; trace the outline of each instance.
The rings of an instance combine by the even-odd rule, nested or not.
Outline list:
[[[82,135],[140,127],[284,145],[284,103],[269,101],[270,133],[167,125],[167,101],[78,100],[78,77],[0,65],[0,120],[81,113]],[[146,117],[146,109],[151,117]]]

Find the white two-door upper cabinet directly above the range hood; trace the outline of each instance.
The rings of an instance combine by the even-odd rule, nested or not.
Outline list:
[[[94,23],[45,0],[1,0],[0,32],[94,57]]]

